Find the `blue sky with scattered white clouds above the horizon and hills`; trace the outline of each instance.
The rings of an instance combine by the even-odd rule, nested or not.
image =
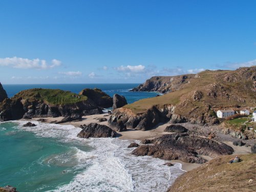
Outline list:
[[[0,1],[0,82],[140,83],[256,65],[256,1]]]

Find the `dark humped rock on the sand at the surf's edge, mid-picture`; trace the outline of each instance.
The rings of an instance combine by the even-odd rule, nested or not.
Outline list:
[[[116,132],[106,125],[90,123],[89,125],[84,124],[80,127],[82,127],[82,130],[77,135],[80,138],[116,137]]]

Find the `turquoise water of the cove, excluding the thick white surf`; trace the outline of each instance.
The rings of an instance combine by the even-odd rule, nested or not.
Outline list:
[[[36,137],[17,129],[18,124],[0,124],[0,183],[11,184],[19,191],[46,191],[68,184],[86,165],[77,166],[77,148],[88,152],[86,145],[63,143],[57,138]]]

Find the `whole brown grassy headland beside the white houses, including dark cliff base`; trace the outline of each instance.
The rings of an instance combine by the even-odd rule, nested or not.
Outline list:
[[[123,127],[123,130],[125,127],[146,130],[168,119],[215,124],[218,119],[214,110],[256,105],[256,66],[235,71],[206,70],[194,77],[191,74],[184,76],[189,81],[179,83],[170,93],[115,110],[110,124]]]

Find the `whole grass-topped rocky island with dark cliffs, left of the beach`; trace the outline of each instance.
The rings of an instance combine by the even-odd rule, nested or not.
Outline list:
[[[62,90],[25,90],[0,103],[0,121],[99,113],[102,111],[88,97]]]

